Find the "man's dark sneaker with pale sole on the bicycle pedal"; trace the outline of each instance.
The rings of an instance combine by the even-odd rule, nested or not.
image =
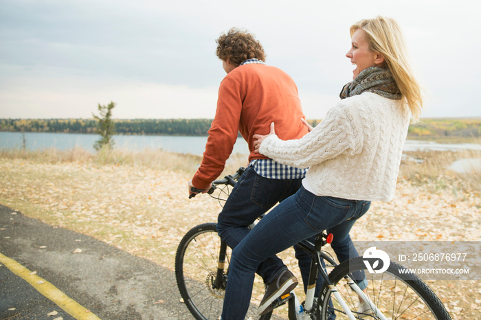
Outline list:
[[[265,287],[265,295],[257,309],[258,315],[269,312],[269,307],[278,297],[290,293],[298,285],[298,279],[287,268],[282,270],[276,279]]]

